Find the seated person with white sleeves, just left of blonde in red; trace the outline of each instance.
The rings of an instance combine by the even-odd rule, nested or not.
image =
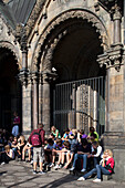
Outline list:
[[[96,167],[96,165],[100,164],[102,154],[103,154],[102,146],[100,146],[97,142],[93,142],[92,143],[92,154],[90,154],[87,156],[87,158],[94,160],[94,167]],[[91,163],[88,163],[88,164],[91,164]]]

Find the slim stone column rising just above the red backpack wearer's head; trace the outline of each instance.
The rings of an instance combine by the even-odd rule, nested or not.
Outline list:
[[[33,83],[33,129],[38,128],[38,74],[32,74]]]

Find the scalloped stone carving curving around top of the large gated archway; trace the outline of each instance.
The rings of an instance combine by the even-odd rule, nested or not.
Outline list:
[[[104,28],[102,21],[92,12],[87,11],[87,10],[70,10],[69,12],[63,12],[59,18],[56,18],[48,28],[46,30],[43,31],[43,33],[41,33],[41,36],[38,41],[38,43],[40,43],[41,45],[37,45],[35,49],[35,53],[34,56],[32,58],[32,64],[33,62],[35,62],[39,58],[39,54],[41,53],[41,49],[44,45],[44,39],[48,38],[48,35],[51,33],[51,31],[61,22],[64,22],[67,19],[74,19],[74,18],[81,18],[81,19],[85,19],[88,22],[92,22],[92,25],[96,28],[96,31],[100,32],[100,38],[105,35],[105,42],[107,42],[106,38],[107,38],[107,33],[106,33],[106,29]],[[102,39],[103,41],[103,39]],[[102,43],[103,45],[103,43]],[[108,44],[107,44],[108,45]],[[105,46],[107,46],[105,45]],[[43,48],[44,49],[44,48]]]

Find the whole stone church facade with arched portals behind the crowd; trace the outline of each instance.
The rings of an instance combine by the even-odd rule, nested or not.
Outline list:
[[[0,124],[94,126],[125,180],[125,2],[0,0]]]

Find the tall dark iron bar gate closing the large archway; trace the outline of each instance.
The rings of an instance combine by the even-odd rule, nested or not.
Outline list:
[[[56,84],[53,92],[53,123],[61,133],[65,128],[94,126],[100,135],[105,126],[105,80],[94,77]]]

